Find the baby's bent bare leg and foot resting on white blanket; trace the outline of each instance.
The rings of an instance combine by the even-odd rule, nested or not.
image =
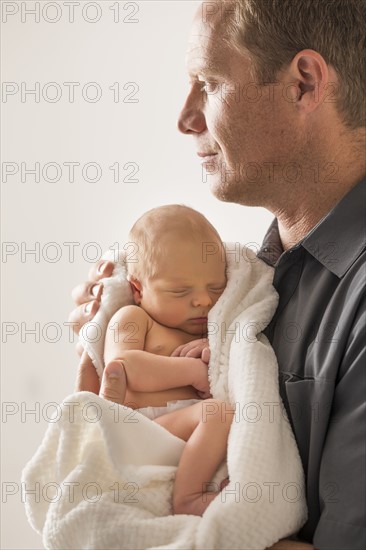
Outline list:
[[[172,434],[187,441],[174,484],[175,514],[201,516],[220,491],[207,492],[227,451],[234,409],[223,401],[206,399],[155,419]]]

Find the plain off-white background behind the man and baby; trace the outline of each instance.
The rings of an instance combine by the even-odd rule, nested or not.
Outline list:
[[[29,13],[36,4],[39,22]],[[79,2],[72,23],[64,2],[1,2],[4,549],[43,547],[25,516],[20,475],[42,440],[52,403],[72,393],[77,357],[65,325],[71,289],[101,251],[122,244],[132,223],[161,204],[196,208],[226,241],[259,244],[270,223],[262,209],[211,196],[193,140],[176,129],[197,5]],[[65,82],[79,83],[73,102]],[[36,83],[39,102],[25,93]],[[92,102],[96,89],[102,95]],[[71,162],[80,163],[74,181],[64,164]],[[26,172],[35,163],[39,182]],[[87,181],[97,174],[89,163],[98,167],[99,181]],[[110,169],[116,163],[118,182]],[[7,170],[16,173],[4,178]]]

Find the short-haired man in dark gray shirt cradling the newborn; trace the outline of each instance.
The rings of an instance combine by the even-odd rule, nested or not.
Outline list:
[[[259,252],[280,295],[266,333],[309,518],[304,544],[274,548],[366,547],[365,12],[365,0],[204,2],[188,49],[180,131],[217,198],[275,215]],[[100,277],[75,291],[89,302],[72,314],[80,325],[98,308]],[[204,343],[187,351],[207,356]],[[94,376],[84,357],[78,388],[98,392]],[[106,376],[101,394],[118,401],[118,379]]]

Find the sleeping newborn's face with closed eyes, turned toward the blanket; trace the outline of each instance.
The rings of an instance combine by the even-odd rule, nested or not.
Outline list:
[[[168,246],[154,279],[142,285],[141,307],[161,325],[193,336],[207,334],[207,315],[226,286],[221,244]]]

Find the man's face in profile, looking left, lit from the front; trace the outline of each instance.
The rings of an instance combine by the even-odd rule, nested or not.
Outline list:
[[[205,22],[202,8],[193,23],[187,65],[190,92],[178,126],[195,138],[213,194],[268,206],[274,170],[293,160],[302,142],[284,85],[256,84],[248,56],[227,41],[225,20],[219,14]]]

